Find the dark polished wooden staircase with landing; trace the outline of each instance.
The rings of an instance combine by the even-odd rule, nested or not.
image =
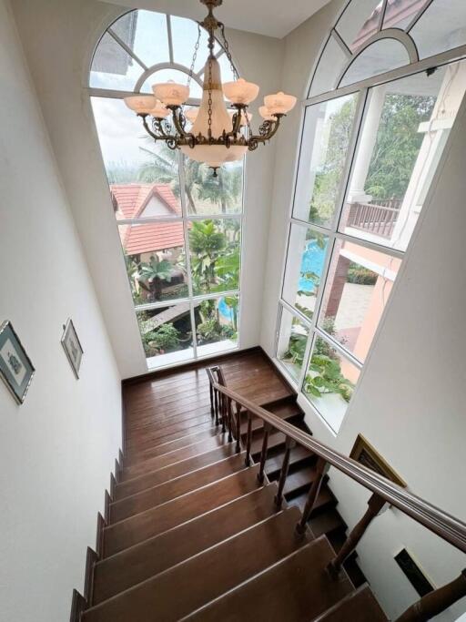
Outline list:
[[[228,385],[304,425],[295,396],[263,355],[222,365]],[[245,452],[211,419],[205,370],[127,386],[125,401],[126,452],[73,622],[386,620],[367,586],[355,589],[346,571],[334,579],[326,570],[332,537],[345,529],[326,484],[309,527],[296,533],[315,456],[291,452],[278,508],[283,434],[269,436],[260,484],[258,464],[247,466]],[[241,424],[242,435],[247,427]],[[254,421],[253,459],[263,433]]]

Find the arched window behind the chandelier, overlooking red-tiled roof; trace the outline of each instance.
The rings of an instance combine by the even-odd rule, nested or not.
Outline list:
[[[156,145],[123,102],[172,79],[189,84],[187,105],[196,107],[206,49],[207,33],[196,22],[136,10],[107,28],[90,68],[96,129],[149,368],[238,346],[242,162],[213,178],[205,165]],[[218,42],[214,53],[223,81],[235,79]]]

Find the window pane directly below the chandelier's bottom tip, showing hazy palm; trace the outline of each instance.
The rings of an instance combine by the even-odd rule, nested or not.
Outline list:
[[[243,161],[228,162],[212,175],[207,164],[183,157],[189,214],[238,214],[243,209]]]

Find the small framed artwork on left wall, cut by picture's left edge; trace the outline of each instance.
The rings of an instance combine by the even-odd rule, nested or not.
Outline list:
[[[17,403],[25,401],[35,368],[11,321],[0,326],[0,375]]]

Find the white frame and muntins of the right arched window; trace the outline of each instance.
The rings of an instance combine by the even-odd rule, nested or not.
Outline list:
[[[400,29],[396,29],[396,28],[387,28],[385,30],[381,30],[381,26],[383,23],[383,17],[385,15],[385,10],[387,8],[387,3],[388,3],[388,0],[384,0],[384,3],[382,5],[382,10],[381,10],[381,17],[380,17],[378,32],[375,33],[375,35],[371,36],[370,39],[364,44],[364,46],[361,46],[355,54],[352,54],[348,46],[346,46],[346,44],[344,43],[341,36],[339,36],[339,32],[337,30],[341,16],[344,14],[346,9],[349,7],[351,2],[353,2],[353,0],[349,0],[349,2],[343,6],[343,8],[341,9],[339,13],[339,16],[336,20],[334,27],[331,29],[329,33],[329,36],[325,38],[325,41],[319,52],[318,60],[311,72],[311,79],[309,81],[309,86],[308,86],[308,97],[305,98],[302,102],[299,147],[297,150],[297,156],[296,156],[296,162],[295,162],[293,191],[292,191],[292,196],[291,196],[291,200],[289,204],[287,245],[286,245],[286,249],[284,252],[284,256],[282,260],[282,267],[281,267],[281,280],[280,280],[281,285],[280,285],[280,291],[279,291],[279,304],[278,304],[278,312],[277,312],[277,320],[276,320],[274,359],[273,359],[274,362],[278,365],[279,369],[282,370],[286,374],[286,377],[288,378],[290,384],[306,400],[306,403],[309,405],[309,408],[311,409],[311,411],[319,417],[319,419],[326,425],[329,431],[334,435],[337,435],[339,431],[334,430],[329,425],[324,415],[320,413],[316,405],[309,400],[309,396],[307,395],[307,393],[304,392],[303,388],[304,388],[304,382],[305,382],[308,369],[309,369],[311,352],[314,346],[314,342],[318,337],[322,338],[326,342],[329,342],[329,344],[333,348],[335,348],[335,350],[339,352],[339,354],[341,354],[347,361],[355,365],[355,367],[357,367],[360,372],[362,371],[364,367],[364,362],[361,362],[351,352],[349,352],[344,347],[342,347],[342,345],[336,339],[334,339],[331,335],[329,335],[326,331],[322,331],[322,329],[319,328],[319,325],[318,325],[320,311],[321,311],[321,301],[322,301],[324,291],[326,291],[326,288],[328,285],[329,265],[330,265],[331,260],[334,258],[336,241],[337,240],[349,241],[354,244],[357,244],[358,246],[366,247],[371,250],[377,250],[385,255],[390,255],[393,258],[400,259],[401,261],[404,259],[406,255],[406,250],[401,251],[401,250],[392,249],[390,247],[384,246],[383,244],[377,244],[369,240],[362,240],[355,236],[350,236],[347,233],[343,233],[339,231],[339,223],[340,223],[343,208],[345,205],[345,199],[347,196],[347,192],[349,189],[349,183],[351,179],[353,166],[354,166],[355,159],[357,156],[357,147],[359,144],[360,131],[364,125],[365,116],[368,111],[368,94],[369,94],[370,88],[378,87],[380,85],[387,84],[387,83],[396,81],[398,79],[401,79],[403,77],[413,76],[415,74],[422,73],[426,71],[427,69],[430,69],[431,67],[440,67],[440,66],[450,65],[454,61],[458,61],[463,58],[466,58],[466,45],[463,45],[463,46],[452,48],[450,50],[446,50],[435,56],[430,56],[428,58],[423,58],[420,60],[417,46],[415,42],[410,38],[409,33],[410,33],[410,29],[419,21],[421,15],[423,15],[428,10],[428,8],[431,6],[433,2],[435,2],[435,0],[430,0],[430,2],[428,2],[422,9],[420,9],[420,12],[417,15],[415,15],[415,17],[411,20],[410,24],[407,26],[405,31],[401,31]],[[394,33],[393,31],[398,31],[398,32]],[[334,89],[330,91],[326,91],[324,93],[319,93],[318,95],[315,95],[313,97],[309,97],[309,91],[312,88],[312,81],[313,81],[314,76],[316,76],[317,74],[317,71],[319,69],[319,64],[321,62],[325,62],[325,49],[329,42],[330,37],[334,37],[337,40],[337,42],[339,43],[339,46],[343,48],[345,55],[348,58],[345,64],[344,70],[339,75],[338,83],[341,81],[342,77],[345,75],[349,66],[351,66],[351,64],[356,60],[356,58],[358,58],[360,53],[363,50],[365,50],[367,47],[369,47],[375,41],[380,41],[383,38],[396,38],[398,41],[400,41],[400,43],[406,47],[409,53],[411,62],[409,65],[397,67],[396,69],[392,69],[388,72],[380,74],[379,76],[371,76],[370,78],[360,80],[360,82],[356,82],[354,84],[350,84],[345,87],[335,87]],[[312,107],[314,105],[325,103],[332,99],[338,99],[339,97],[344,97],[344,96],[352,95],[352,94],[358,94],[359,97],[358,97],[358,101],[356,105],[356,111],[355,111],[355,116],[353,120],[351,137],[349,139],[348,155],[347,155],[345,167],[341,173],[341,178],[339,182],[339,195],[336,200],[335,211],[333,214],[331,227],[329,228],[321,227],[317,224],[313,224],[309,221],[298,219],[295,216],[293,216],[293,211],[295,207],[295,199],[296,199],[296,189],[298,186],[298,178],[299,178],[299,160],[300,160],[303,140],[305,139],[304,134],[305,134],[306,111],[309,107]],[[420,222],[418,220],[416,229],[419,226],[419,224]],[[325,261],[322,267],[321,279],[319,283],[319,291],[316,297],[315,308],[312,314],[312,319],[309,319],[309,317],[304,315],[296,307],[290,305],[289,302],[285,301],[283,298],[285,275],[286,275],[287,261],[288,261],[288,256],[289,256],[289,239],[291,235],[291,228],[293,225],[298,225],[301,227],[305,227],[306,229],[311,229],[316,232],[322,233],[329,239],[329,242],[327,245],[326,257],[325,257]],[[411,239],[412,237],[414,237],[414,233],[412,234]],[[408,248],[409,246],[410,245],[408,245]],[[302,363],[302,367],[299,373],[298,382],[289,373],[289,370],[287,369],[286,364],[284,364],[279,359],[279,352],[278,352],[279,331],[280,331],[280,326],[281,326],[281,318],[282,318],[283,309],[289,311],[293,316],[297,317],[299,321],[301,321],[306,326],[307,330],[309,331],[308,342],[306,345],[306,351],[304,354],[304,360]],[[386,312],[386,307],[384,311],[382,312],[382,318],[380,318],[379,325],[383,321],[383,315],[385,314],[385,312]],[[366,360],[368,359],[370,351],[372,350],[373,342],[374,342],[374,339],[372,340],[370,344],[370,349],[369,349],[368,355],[366,356]],[[357,385],[359,383],[360,381],[358,381]]]

